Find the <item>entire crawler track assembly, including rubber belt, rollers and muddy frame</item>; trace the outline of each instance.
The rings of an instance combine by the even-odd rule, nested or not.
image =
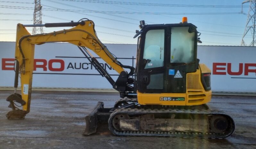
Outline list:
[[[146,115],[146,116],[145,116]],[[151,116],[165,117],[169,119],[149,119]],[[175,119],[176,117],[188,117],[187,119]],[[187,116],[184,116],[187,115]],[[143,116],[145,117],[143,119]],[[194,119],[193,118],[203,118]],[[141,119],[142,118],[142,119]],[[121,120],[119,120],[121,119]],[[144,121],[142,121],[144,120]],[[163,126],[165,122],[198,122],[194,125],[195,131],[167,130]],[[208,122],[206,122],[208,121]],[[123,123],[123,126],[120,124]],[[201,124],[202,123],[202,124]],[[143,126],[141,126],[143,125]],[[170,124],[169,124],[170,125]],[[173,123],[171,124],[173,126]],[[206,130],[198,130],[198,125],[204,125]],[[146,126],[146,128],[145,128]],[[163,127],[157,127],[163,126]],[[192,125],[193,126],[193,125]],[[183,138],[225,138],[233,134],[235,130],[234,120],[227,114],[217,110],[184,110],[184,109],[115,109],[108,119],[109,130],[116,136],[148,136],[148,137],[183,137]],[[142,128],[144,127],[144,128]],[[157,129],[154,129],[154,128]],[[217,128],[215,128],[217,127]],[[125,130],[126,129],[126,130]]]

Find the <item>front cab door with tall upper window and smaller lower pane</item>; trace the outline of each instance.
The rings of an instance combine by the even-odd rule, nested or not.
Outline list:
[[[137,86],[140,92],[165,92],[166,86],[165,27],[154,27],[142,34],[137,63]]]

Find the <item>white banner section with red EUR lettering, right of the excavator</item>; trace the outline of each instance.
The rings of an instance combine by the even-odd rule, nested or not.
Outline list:
[[[256,92],[256,47],[198,46],[200,63],[211,69],[215,92]]]

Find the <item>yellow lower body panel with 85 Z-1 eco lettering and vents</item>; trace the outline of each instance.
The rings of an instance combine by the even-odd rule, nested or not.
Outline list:
[[[201,70],[186,75],[186,93],[142,93],[137,91],[140,105],[192,106],[206,104],[212,91],[206,91],[201,82]]]

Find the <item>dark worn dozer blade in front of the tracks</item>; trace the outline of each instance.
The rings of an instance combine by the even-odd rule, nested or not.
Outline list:
[[[99,125],[107,124],[113,109],[115,108],[104,108],[104,103],[98,102],[93,111],[85,117],[86,127],[83,135],[96,133]]]

